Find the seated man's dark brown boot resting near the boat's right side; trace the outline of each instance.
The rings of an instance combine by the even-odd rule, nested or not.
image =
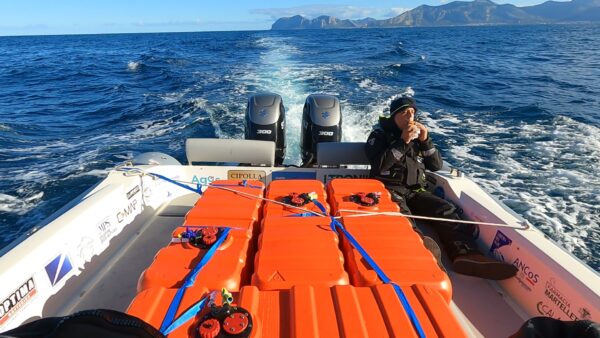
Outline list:
[[[490,280],[507,279],[517,274],[516,266],[487,257],[465,243],[454,242],[448,249],[456,273]]]

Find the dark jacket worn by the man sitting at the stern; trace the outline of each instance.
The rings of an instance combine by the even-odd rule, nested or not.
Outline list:
[[[425,187],[425,169],[437,171],[443,161],[431,138],[404,143],[390,118],[381,118],[369,135],[365,151],[371,162],[371,177],[402,194]]]

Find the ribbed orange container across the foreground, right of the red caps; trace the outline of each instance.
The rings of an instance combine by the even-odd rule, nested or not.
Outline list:
[[[466,337],[440,294],[424,285],[403,286],[425,336]],[[390,284],[242,288],[239,305],[250,311],[250,337],[418,337]]]

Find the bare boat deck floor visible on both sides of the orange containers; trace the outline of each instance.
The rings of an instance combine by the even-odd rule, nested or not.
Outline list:
[[[43,316],[63,316],[85,309],[125,311],[137,291],[140,274],[156,252],[170,241],[172,230],[196,201],[190,194],[158,210],[147,208],[126,227],[102,255],[94,257],[79,278],[70,279],[46,304]],[[427,229],[425,229],[427,233]],[[496,286],[478,278],[457,275],[444,262],[453,286],[452,310],[473,337],[507,337],[524,319]],[[71,300],[65,303],[63,300]]]

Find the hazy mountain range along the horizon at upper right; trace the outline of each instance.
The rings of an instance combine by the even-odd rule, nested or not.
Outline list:
[[[338,19],[326,15],[309,19],[296,15],[278,19],[273,23],[271,29],[387,28],[584,21],[600,22],[600,0],[546,1],[527,7],[517,7],[511,4],[499,5],[490,0],[453,1],[441,6],[422,5],[384,20],[373,18]]]

